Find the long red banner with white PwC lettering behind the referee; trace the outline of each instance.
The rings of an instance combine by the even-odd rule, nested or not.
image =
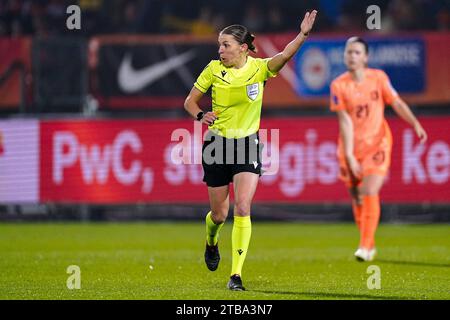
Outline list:
[[[450,117],[421,118],[420,144],[402,120],[394,136],[385,202],[450,202]],[[40,200],[66,203],[207,203],[205,127],[189,120],[43,121]],[[335,118],[274,118],[261,124],[263,170],[255,202],[348,202],[338,180]],[[191,164],[183,164],[189,162]]]

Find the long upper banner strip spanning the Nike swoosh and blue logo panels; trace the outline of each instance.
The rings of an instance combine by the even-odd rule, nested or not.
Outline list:
[[[295,34],[260,34],[258,57],[282,51]],[[351,35],[312,35],[276,78],[269,79],[264,106],[328,106],[329,83],[345,71],[343,50]],[[384,69],[408,103],[450,102],[450,33],[362,35],[369,65]],[[218,58],[216,37],[100,36],[91,39],[91,92],[102,108],[182,108],[195,79]],[[210,106],[205,97],[202,106]]]

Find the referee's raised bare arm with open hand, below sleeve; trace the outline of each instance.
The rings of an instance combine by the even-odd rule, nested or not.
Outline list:
[[[291,60],[291,58],[298,51],[298,49],[300,49],[300,47],[308,37],[308,34],[314,25],[316,15],[316,10],[313,10],[311,13],[307,12],[305,14],[305,17],[303,18],[303,21],[300,25],[300,33],[297,35],[297,37],[289,42],[289,44],[284,48],[282,52],[274,55],[267,63],[270,71],[274,73],[280,71],[281,68],[283,68],[289,60]]]

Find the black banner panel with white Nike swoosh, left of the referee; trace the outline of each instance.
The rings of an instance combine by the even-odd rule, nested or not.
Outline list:
[[[100,104],[107,108],[181,108],[203,68],[218,58],[217,41],[172,38],[94,38],[90,64],[96,73],[94,93]]]

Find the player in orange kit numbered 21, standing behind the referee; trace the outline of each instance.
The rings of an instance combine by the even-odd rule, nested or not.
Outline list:
[[[340,178],[349,188],[360,232],[358,261],[375,257],[375,232],[380,218],[379,192],[389,170],[392,134],[384,118],[385,104],[415,130],[424,143],[427,134],[408,105],[391,86],[386,73],[367,67],[368,45],[358,37],[347,40],[347,72],[331,83],[331,110],[339,119]]]

